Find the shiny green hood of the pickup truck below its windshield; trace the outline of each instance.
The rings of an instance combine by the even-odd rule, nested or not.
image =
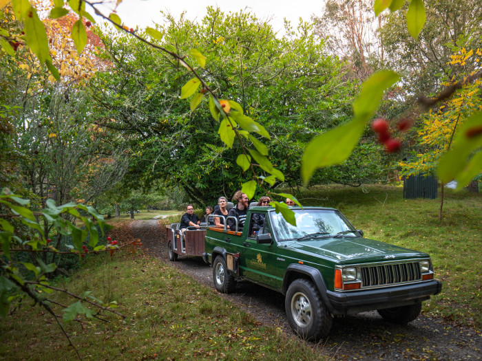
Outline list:
[[[290,248],[307,256],[322,256],[333,259],[333,261],[338,263],[346,263],[344,261],[353,259],[357,259],[357,263],[364,263],[429,257],[428,254],[423,252],[361,237],[317,238],[292,241],[286,244],[286,249]]]

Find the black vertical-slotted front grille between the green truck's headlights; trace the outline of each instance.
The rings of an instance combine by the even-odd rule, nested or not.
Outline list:
[[[418,262],[393,263],[362,267],[362,287],[377,287],[421,281]]]

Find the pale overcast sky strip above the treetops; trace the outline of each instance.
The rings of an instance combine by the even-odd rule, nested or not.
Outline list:
[[[176,19],[179,19],[183,10],[186,10],[187,19],[200,21],[206,14],[207,6],[218,6],[223,12],[238,12],[247,8],[255,13],[258,19],[272,18],[270,24],[273,30],[283,33],[285,17],[291,21],[293,28],[296,28],[300,17],[304,21],[310,21],[311,14],[320,15],[323,4],[324,0],[123,0],[117,8],[117,14],[127,27],[136,28],[136,25],[139,25],[140,28],[145,28],[153,25],[153,21],[162,23],[160,10],[171,12]],[[102,12],[108,16],[110,10]]]

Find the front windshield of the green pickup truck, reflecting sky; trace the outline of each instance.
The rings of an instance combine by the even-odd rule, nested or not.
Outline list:
[[[314,237],[358,237],[358,232],[337,210],[294,209],[296,227],[286,222],[281,213],[271,213],[273,231],[278,241],[289,241],[313,234]],[[353,232],[345,232],[353,231]],[[304,237],[309,239],[309,237]]]

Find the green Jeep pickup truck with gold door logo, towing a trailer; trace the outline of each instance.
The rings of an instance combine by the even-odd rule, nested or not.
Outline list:
[[[202,257],[218,291],[244,280],[281,292],[291,327],[306,340],[326,337],[336,315],[376,309],[410,322],[441,291],[428,254],[366,239],[333,208],[292,209],[297,226],[274,208],[253,207],[242,232],[205,231]]]

